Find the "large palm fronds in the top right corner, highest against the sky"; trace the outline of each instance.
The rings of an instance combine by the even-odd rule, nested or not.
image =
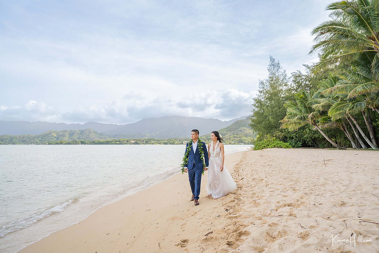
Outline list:
[[[379,81],[379,2],[378,0],[344,0],[327,6],[332,20],[313,29],[318,52],[316,69],[337,64],[351,64],[363,54],[372,54],[373,80]]]

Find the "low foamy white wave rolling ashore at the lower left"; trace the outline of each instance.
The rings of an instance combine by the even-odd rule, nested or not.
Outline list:
[[[52,214],[63,212],[67,206],[69,206],[72,203],[77,202],[81,197],[85,195],[86,193],[80,193],[74,198],[64,201],[63,203],[60,203],[56,206],[50,207],[49,209],[38,212],[36,214],[29,215],[28,217],[25,217],[25,218],[14,220],[13,222],[6,224],[5,226],[2,226],[0,228],[0,238],[6,236],[7,234],[19,231],[20,229],[27,228],[28,226],[31,226],[34,223],[38,222],[39,220],[49,217]]]

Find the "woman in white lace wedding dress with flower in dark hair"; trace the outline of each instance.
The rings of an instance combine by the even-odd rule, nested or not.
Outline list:
[[[217,131],[211,133],[208,157],[207,198],[221,198],[237,189],[229,171],[224,168],[224,144],[222,144],[222,136]]]

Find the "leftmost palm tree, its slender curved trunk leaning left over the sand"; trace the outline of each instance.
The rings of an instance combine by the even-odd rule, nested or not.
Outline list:
[[[301,90],[299,93],[294,95],[296,102],[287,101],[284,104],[284,106],[287,108],[287,113],[284,119],[280,121],[282,123],[280,128],[297,130],[301,126],[310,124],[314,126],[315,129],[317,129],[333,146],[338,149],[346,149],[337,145],[337,143],[330,139],[317,125],[318,119],[320,119],[323,115],[321,115],[322,112],[319,110],[314,110],[312,108],[312,106],[317,101],[314,98],[314,95],[315,91],[313,90],[309,91],[309,93]]]

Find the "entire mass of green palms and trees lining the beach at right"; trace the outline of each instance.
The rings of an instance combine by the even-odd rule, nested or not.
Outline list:
[[[310,53],[318,53],[318,63],[288,80],[270,57],[252,104],[257,142],[275,137],[292,147],[378,149],[379,1],[338,1],[326,9],[331,20],[312,31]]]

